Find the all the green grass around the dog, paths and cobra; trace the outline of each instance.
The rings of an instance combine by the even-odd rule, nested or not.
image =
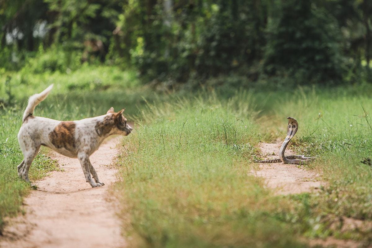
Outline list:
[[[132,247],[306,247],[300,237],[327,236],[371,244],[370,227],[342,222],[372,221],[372,168],[360,163],[372,151],[369,85],[158,94],[135,73],[106,66],[4,72],[0,82],[0,230],[30,190],[16,173],[27,98],[54,83],[35,115],[73,120],[126,107],[138,123],[123,141],[114,191]],[[299,121],[292,148],[318,156],[304,167],[326,182],[316,193],[275,196],[250,174],[258,142],[283,138],[286,116]],[[44,150],[32,180],[52,170],[59,168]]]

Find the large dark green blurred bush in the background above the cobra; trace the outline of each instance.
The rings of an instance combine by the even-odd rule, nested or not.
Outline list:
[[[296,83],[337,83],[342,76],[340,29],[316,1],[275,1],[267,25],[264,70]]]

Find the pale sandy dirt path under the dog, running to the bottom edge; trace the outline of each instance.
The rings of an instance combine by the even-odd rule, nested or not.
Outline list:
[[[37,181],[25,199],[26,215],[9,220],[0,239],[0,247],[123,247],[120,223],[107,191],[116,180],[116,170],[109,168],[118,154],[118,138],[111,139],[90,157],[103,187],[86,183],[80,163],[75,158],[54,154],[64,172],[53,171]]]

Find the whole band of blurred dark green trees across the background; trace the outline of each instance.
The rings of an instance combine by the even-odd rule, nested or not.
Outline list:
[[[0,68],[355,83],[369,80],[371,22],[372,0],[0,0]]]

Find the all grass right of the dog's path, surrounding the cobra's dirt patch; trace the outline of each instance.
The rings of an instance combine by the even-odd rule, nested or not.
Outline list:
[[[119,161],[116,195],[131,245],[306,246],[299,236],[370,245],[372,173],[360,157],[372,149],[372,104],[358,91],[299,88],[254,98],[243,91],[225,100],[203,93],[150,104],[141,114],[147,124],[125,139]],[[319,157],[304,168],[321,172],[321,191],[273,196],[249,175],[254,146],[285,136],[286,116],[299,120],[295,149]]]

